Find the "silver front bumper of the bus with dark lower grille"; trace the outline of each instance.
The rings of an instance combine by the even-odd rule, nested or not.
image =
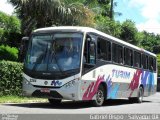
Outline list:
[[[78,96],[79,80],[69,81],[59,87],[34,86],[26,79],[23,79],[23,96],[40,97],[49,99],[80,100]]]

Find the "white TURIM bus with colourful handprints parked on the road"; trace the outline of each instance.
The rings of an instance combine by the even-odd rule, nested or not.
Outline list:
[[[24,60],[23,95],[62,100],[132,99],[157,87],[156,55],[89,27],[34,30]]]

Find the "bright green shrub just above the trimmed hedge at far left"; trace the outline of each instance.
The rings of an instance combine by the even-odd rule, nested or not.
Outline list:
[[[18,60],[18,49],[15,47],[1,45],[0,46],[0,60],[17,61]]]

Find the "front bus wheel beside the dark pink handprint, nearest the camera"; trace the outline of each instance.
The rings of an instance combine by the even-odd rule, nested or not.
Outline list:
[[[93,105],[96,107],[102,106],[105,100],[105,90],[102,85],[99,86],[96,93],[96,99],[93,101]]]

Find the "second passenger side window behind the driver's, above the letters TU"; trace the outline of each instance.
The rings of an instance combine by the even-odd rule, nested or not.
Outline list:
[[[123,47],[115,43],[112,44],[112,60],[123,64]]]

